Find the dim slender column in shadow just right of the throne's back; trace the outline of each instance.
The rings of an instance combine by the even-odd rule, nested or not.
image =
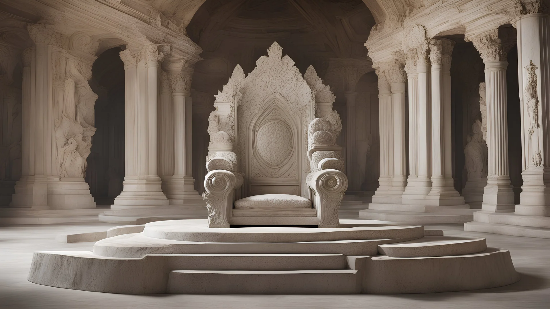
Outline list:
[[[344,91],[346,100],[346,175],[350,179],[355,179],[355,157],[356,157],[356,140],[355,140],[355,99],[357,98],[357,92],[346,90]],[[353,187],[349,191],[357,191],[359,188]]]

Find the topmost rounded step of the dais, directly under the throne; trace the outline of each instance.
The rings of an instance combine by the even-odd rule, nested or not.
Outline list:
[[[292,228],[244,227],[208,228],[207,220],[172,220],[145,224],[145,236],[157,239],[201,242],[303,242],[363,239],[419,238],[424,227]]]

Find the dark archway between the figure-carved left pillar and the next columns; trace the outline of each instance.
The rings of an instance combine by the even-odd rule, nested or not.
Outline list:
[[[111,205],[124,180],[124,64],[120,47],[107,49],[92,66],[90,86],[98,95],[86,182],[97,205]]]

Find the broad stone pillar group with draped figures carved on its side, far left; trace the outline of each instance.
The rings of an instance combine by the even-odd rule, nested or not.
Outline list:
[[[92,54],[68,52],[65,37],[28,26],[34,46],[23,52],[21,178],[12,207],[95,208],[84,181],[94,128]]]

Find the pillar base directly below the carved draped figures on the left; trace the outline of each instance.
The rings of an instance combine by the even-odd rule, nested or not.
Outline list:
[[[84,178],[55,178],[48,180],[50,209],[94,209],[96,203]]]

